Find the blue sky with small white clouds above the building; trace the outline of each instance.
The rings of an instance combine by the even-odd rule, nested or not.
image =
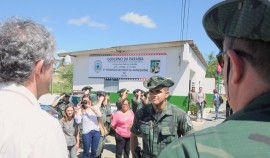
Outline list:
[[[9,0],[0,22],[30,18],[55,37],[57,52],[193,40],[205,59],[218,48],[202,26],[205,12],[222,0]],[[185,6],[185,7],[184,7]]]

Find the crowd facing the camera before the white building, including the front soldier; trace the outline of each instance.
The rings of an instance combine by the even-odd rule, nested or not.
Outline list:
[[[72,105],[69,101],[70,94],[61,94],[52,106],[59,113],[69,156],[76,157],[74,151],[80,144],[78,130],[81,130],[83,158],[101,157],[109,128],[114,130],[116,157],[128,158],[130,151],[134,157],[157,156],[167,144],[193,129],[189,116],[167,101],[169,87],[174,85],[172,80],[153,76],[143,84],[149,92],[135,89],[131,101],[128,99],[127,89],[117,92],[119,99],[116,102],[117,112],[114,114],[111,112],[109,95],[104,91],[96,92],[97,102],[94,105],[89,95],[91,86],[82,88],[82,91],[73,91],[82,94],[77,105]],[[137,143],[140,134],[143,146]],[[155,138],[159,141],[152,142]],[[139,153],[138,149],[141,149]]]

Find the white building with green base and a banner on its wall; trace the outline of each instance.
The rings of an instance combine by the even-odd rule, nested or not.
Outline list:
[[[192,40],[59,54],[60,57],[67,55],[74,64],[73,89],[91,85],[93,91],[111,92],[114,101],[119,89],[127,88],[131,93],[137,88],[146,90],[143,80],[163,76],[175,82],[170,88],[169,101],[181,108],[186,107],[191,85],[196,89],[203,85],[207,65]]]

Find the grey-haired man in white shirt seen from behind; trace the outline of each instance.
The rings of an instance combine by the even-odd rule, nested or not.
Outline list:
[[[57,119],[37,99],[49,92],[55,41],[40,24],[12,17],[0,27],[0,157],[67,158]]]

